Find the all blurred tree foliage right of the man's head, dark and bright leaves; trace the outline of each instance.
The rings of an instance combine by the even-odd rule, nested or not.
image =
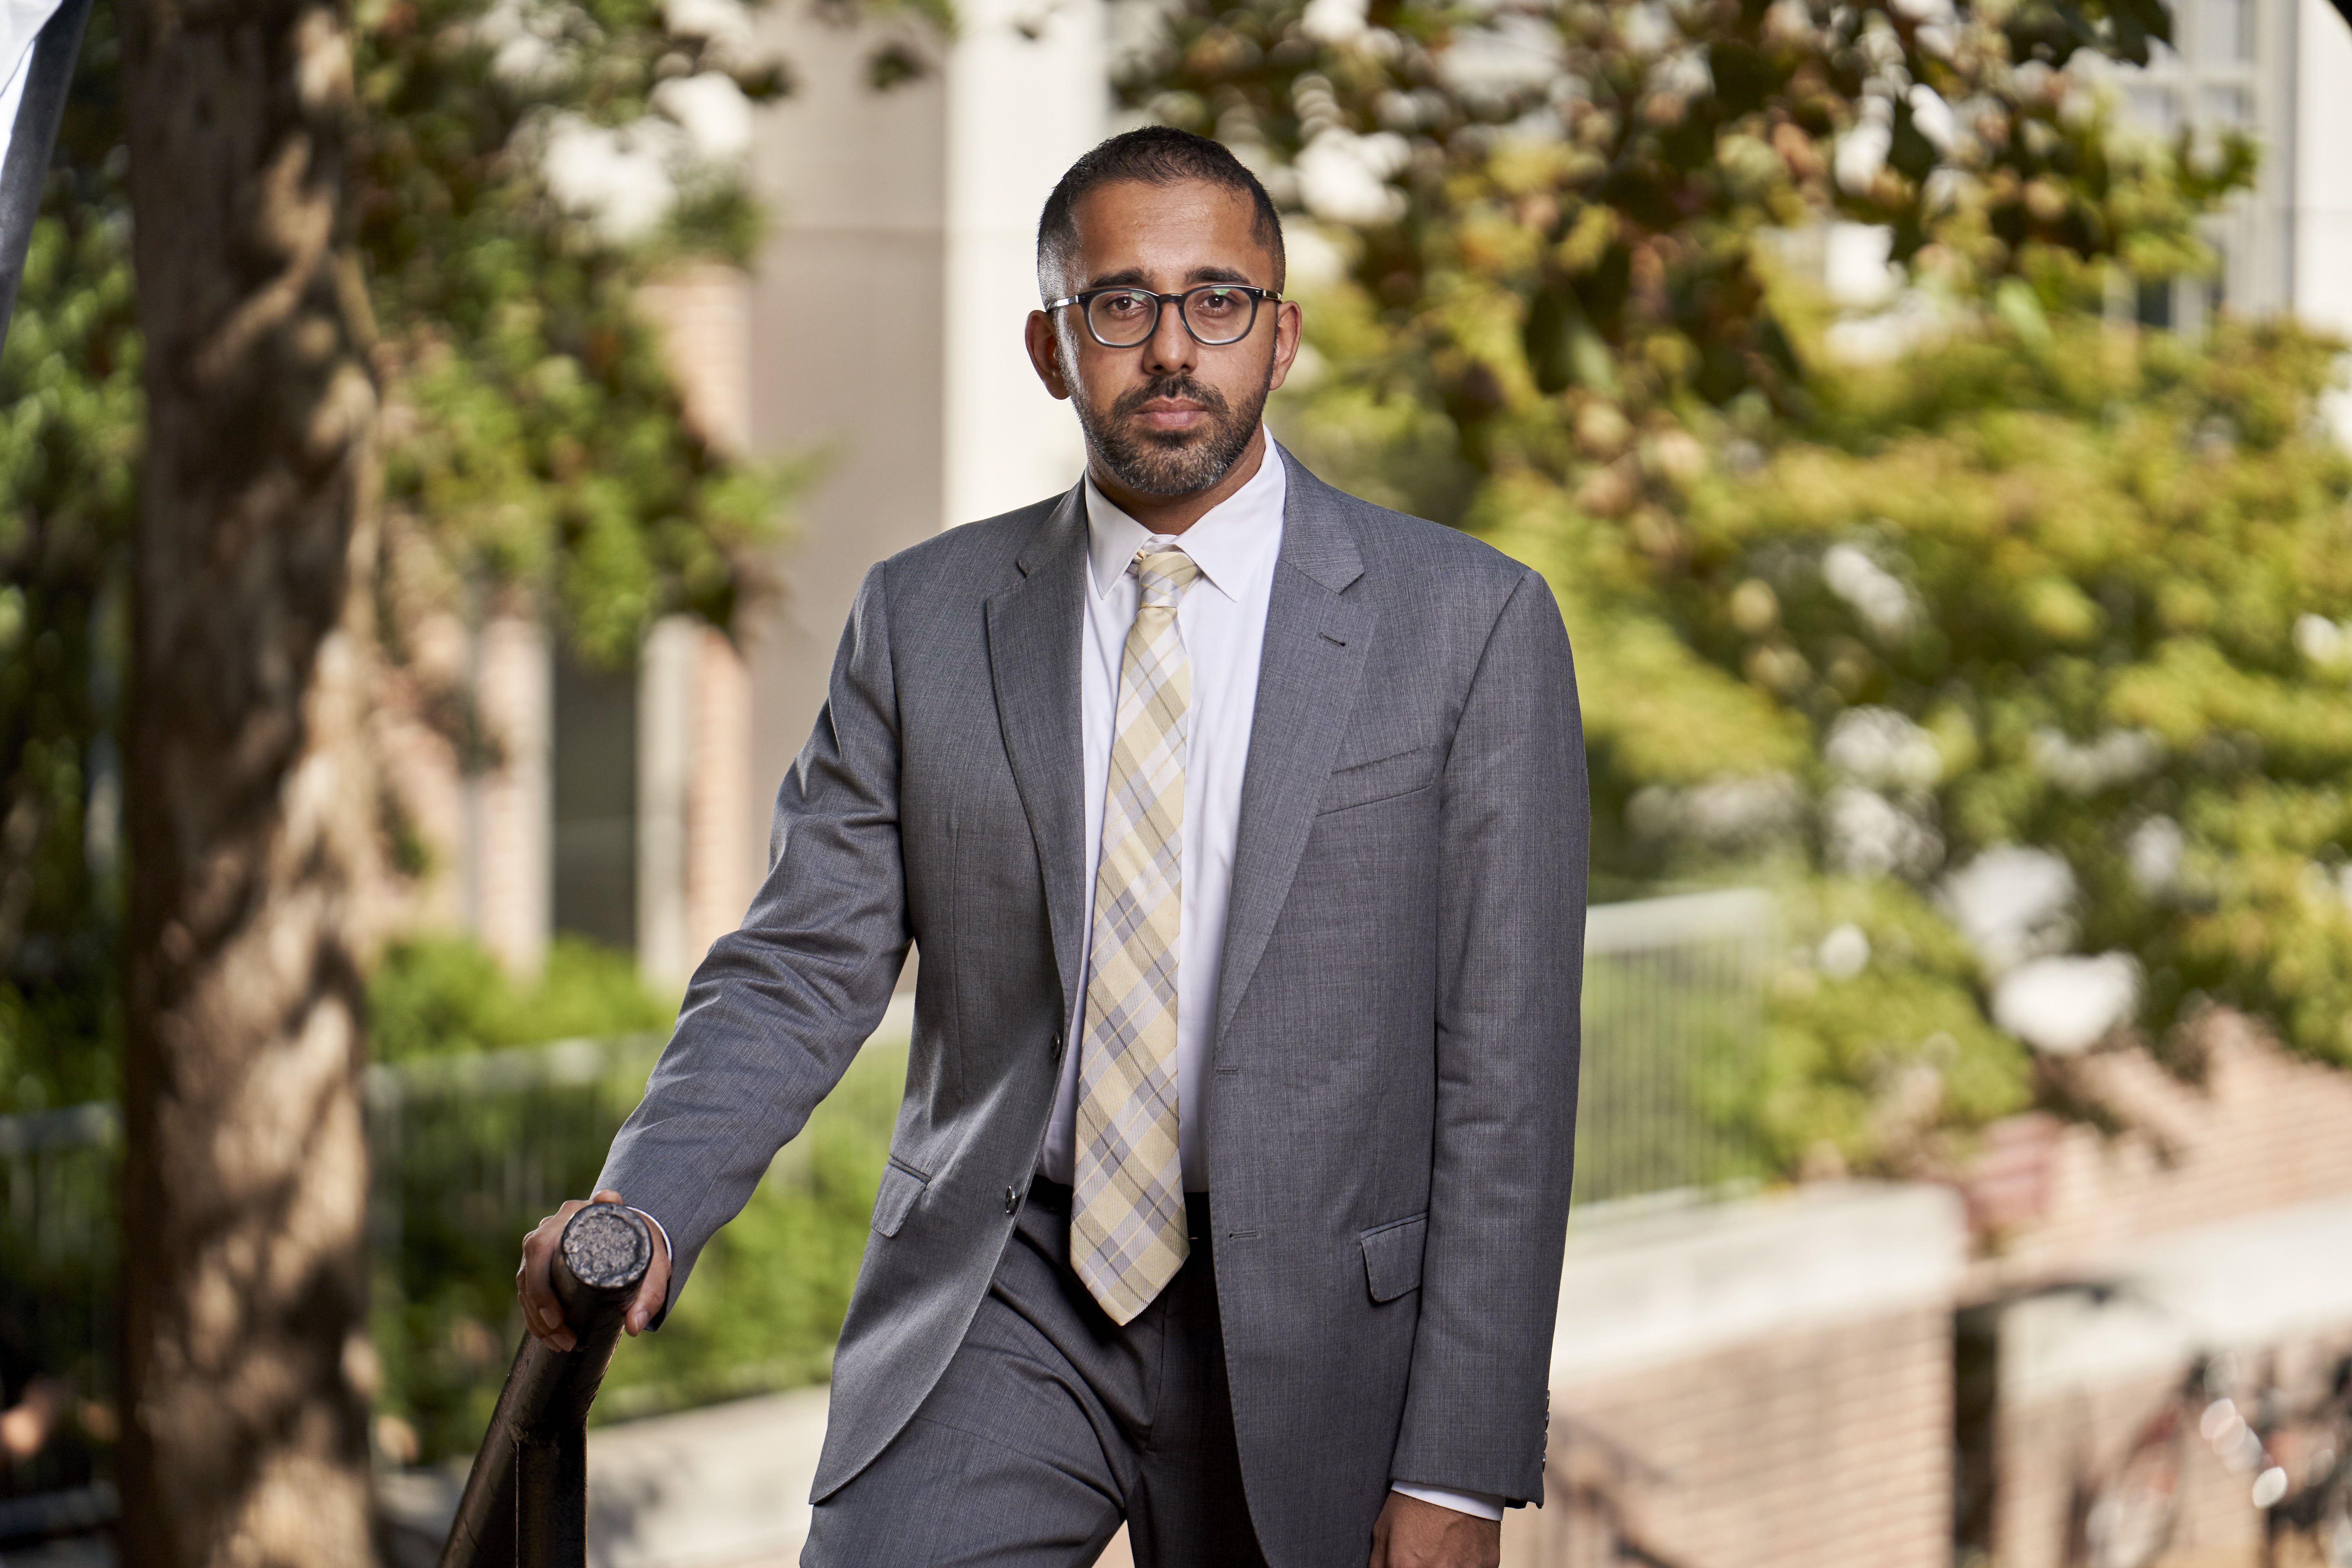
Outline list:
[[[2333,350],[2110,322],[2253,169],[2112,122],[2096,78],[2164,38],[2157,0],[1178,0],[1127,61],[1298,209],[1289,440],[1548,571],[1595,889],[1788,891],[1724,1107],[1783,1171],[1947,1168],[2133,1001],[2352,1060]],[[1792,263],[1870,235],[1889,299],[1832,310]]]

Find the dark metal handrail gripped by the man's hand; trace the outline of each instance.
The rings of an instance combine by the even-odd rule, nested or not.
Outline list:
[[[619,1204],[588,1204],[564,1225],[550,1274],[574,1345],[548,1349],[522,1335],[440,1568],[586,1566],[588,1406],[652,1260],[652,1232]]]

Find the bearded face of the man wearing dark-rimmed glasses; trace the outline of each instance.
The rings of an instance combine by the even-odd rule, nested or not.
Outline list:
[[[1204,282],[1275,289],[1275,256],[1251,216],[1247,195],[1204,181],[1098,186],[1073,209],[1077,249],[1061,292],[1124,284],[1181,294]],[[1174,303],[1134,348],[1098,343],[1077,306],[1030,317],[1030,360],[1047,390],[1077,407],[1096,461],[1150,496],[1188,496],[1223,480],[1296,353],[1291,303],[1261,303],[1249,334],[1223,346],[1185,331]]]

